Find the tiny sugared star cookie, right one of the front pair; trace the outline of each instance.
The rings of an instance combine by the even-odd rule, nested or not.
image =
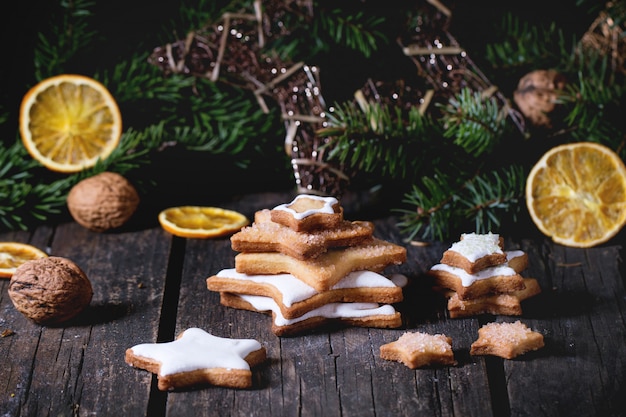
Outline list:
[[[519,320],[514,323],[488,323],[478,329],[478,339],[472,343],[470,354],[513,359],[543,346],[543,335]]]

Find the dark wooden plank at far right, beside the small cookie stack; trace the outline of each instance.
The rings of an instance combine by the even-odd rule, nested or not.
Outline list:
[[[621,415],[626,409],[621,247],[583,250],[545,243],[541,252],[536,248],[525,242],[529,273],[544,292],[525,305],[522,320],[544,334],[546,347],[503,362],[511,415]]]

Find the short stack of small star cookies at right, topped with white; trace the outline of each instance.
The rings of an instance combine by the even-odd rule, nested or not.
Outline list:
[[[463,234],[430,268],[435,287],[448,298],[450,317],[519,316],[521,302],[541,292],[536,279],[520,275],[528,266],[526,253],[503,248],[498,234]]]

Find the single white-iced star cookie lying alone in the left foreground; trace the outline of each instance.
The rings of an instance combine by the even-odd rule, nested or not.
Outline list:
[[[161,391],[196,384],[250,388],[250,367],[265,361],[265,348],[253,339],[228,339],[190,328],[176,340],[143,343],[126,350],[126,363],[157,374]]]

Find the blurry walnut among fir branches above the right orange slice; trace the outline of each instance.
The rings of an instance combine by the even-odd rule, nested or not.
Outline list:
[[[552,129],[553,113],[566,85],[565,76],[556,70],[535,70],[519,80],[513,100],[533,126]]]

